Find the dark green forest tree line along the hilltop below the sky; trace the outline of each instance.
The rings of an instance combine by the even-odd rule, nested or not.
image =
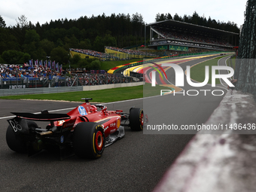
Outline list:
[[[238,32],[234,23],[206,20],[196,12],[193,16],[157,14],[155,20],[180,20],[212,28]],[[130,47],[144,44],[145,21],[141,14],[105,14],[80,17],[75,20],[50,20],[33,24],[25,15],[18,17],[15,26],[6,26],[0,15],[0,63],[23,63],[29,59],[46,59],[68,65],[69,48],[104,52],[104,46]],[[149,30],[149,29],[147,29]],[[147,32],[149,35],[149,32]],[[149,39],[149,37],[147,37]]]

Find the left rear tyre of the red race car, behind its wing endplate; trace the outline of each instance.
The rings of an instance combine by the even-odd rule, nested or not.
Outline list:
[[[37,123],[32,120],[27,120],[29,129],[32,127],[38,127]],[[6,142],[12,151],[17,153],[25,153],[27,151],[26,141],[18,133],[14,133],[14,130],[9,125],[6,131]]]

